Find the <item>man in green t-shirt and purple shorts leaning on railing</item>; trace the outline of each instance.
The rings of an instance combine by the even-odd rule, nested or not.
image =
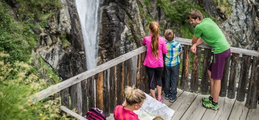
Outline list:
[[[230,46],[219,26],[210,18],[203,19],[200,11],[192,11],[187,18],[190,19],[190,24],[195,27],[190,50],[195,53],[196,46],[203,42],[206,42],[213,48],[214,57],[208,69],[210,97],[202,98],[202,101],[204,107],[218,110],[221,79],[225,62],[230,56]]]

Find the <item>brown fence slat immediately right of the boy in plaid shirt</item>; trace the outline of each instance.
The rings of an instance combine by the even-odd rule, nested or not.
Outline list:
[[[180,88],[186,90],[188,87],[189,78],[189,63],[190,63],[190,45],[183,45],[183,59],[182,59],[182,75],[180,80]]]

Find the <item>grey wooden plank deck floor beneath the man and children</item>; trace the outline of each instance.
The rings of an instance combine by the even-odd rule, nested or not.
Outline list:
[[[206,109],[202,106],[202,95],[177,89],[177,99],[174,102],[164,99],[163,103],[175,111],[173,119],[259,119],[259,105],[256,109],[245,107],[245,101],[219,97],[219,110]],[[165,95],[163,94],[163,98]],[[107,120],[114,119],[113,114]]]

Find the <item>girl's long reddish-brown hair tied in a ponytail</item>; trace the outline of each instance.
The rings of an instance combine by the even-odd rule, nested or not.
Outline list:
[[[151,41],[151,48],[152,54],[158,58],[158,37],[159,37],[159,24],[156,21],[153,21],[149,24],[149,29],[152,32],[152,41]]]

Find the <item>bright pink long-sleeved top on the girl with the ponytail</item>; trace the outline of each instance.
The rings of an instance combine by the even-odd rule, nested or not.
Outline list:
[[[164,66],[163,53],[166,54],[167,48],[165,40],[162,37],[158,37],[158,58],[152,54],[151,48],[152,35],[144,37],[142,44],[147,45],[147,55],[143,63],[144,66],[149,68],[158,68]]]

